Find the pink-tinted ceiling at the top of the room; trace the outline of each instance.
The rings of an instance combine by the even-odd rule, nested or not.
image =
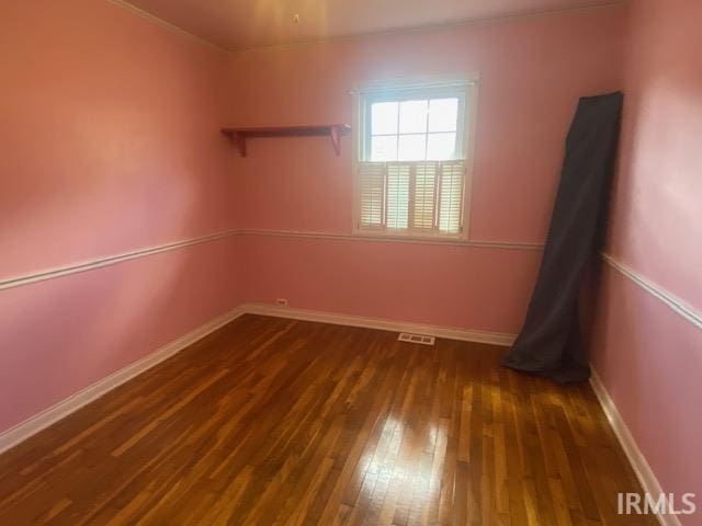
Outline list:
[[[613,0],[129,0],[225,49],[535,14]],[[298,15],[298,21],[295,20]]]

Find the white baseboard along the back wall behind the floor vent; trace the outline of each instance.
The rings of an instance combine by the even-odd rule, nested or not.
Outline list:
[[[451,327],[427,325],[407,321],[387,320],[384,318],[366,318],[363,316],[338,315],[319,310],[295,309],[270,304],[244,304],[240,306],[244,312],[276,318],[290,318],[293,320],[317,321],[336,325],[362,327],[365,329],[378,329],[393,332],[411,332],[415,334],[429,334],[435,338],[461,340],[464,342],[489,343],[492,345],[512,345],[514,334],[500,332],[473,331]]]

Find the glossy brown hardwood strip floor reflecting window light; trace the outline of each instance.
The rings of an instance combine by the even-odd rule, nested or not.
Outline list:
[[[0,456],[0,524],[654,525],[589,386],[246,316]]]

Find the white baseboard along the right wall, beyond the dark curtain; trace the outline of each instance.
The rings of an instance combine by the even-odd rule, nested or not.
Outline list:
[[[648,466],[644,454],[638,449],[636,441],[634,441],[634,437],[629,431],[624,419],[622,419],[604,384],[602,384],[602,380],[595,370],[592,370],[592,375],[590,376],[590,385],[600,401],[600,405],[602,405],[607,420],[609,420],[616,438],[622,445],[622,449],[624,449],[626,454],[626,458],[629,458],[629,462],[632,465],[632,468],[634,468],[636,478],[638,482],[641,482],[644,492],[656,496],[664,493],[656,474],[653,469],[650,469],[650,466]],[[680,526],[680,519],[677,515],[658,514],[657,518],[661,526]]]

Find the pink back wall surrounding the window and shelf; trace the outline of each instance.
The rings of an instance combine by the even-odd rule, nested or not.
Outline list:
[[[621,88],[624,27],[625,10],[610,8],[245,52],[229,64],[229,119],[351,122],[358,82],[477,71],[471,237],[541,243],[578,96]],[[249,157],[233,161],[239,224],[350,233],[351,155],[349,138],[340,158],[324,138],[250,141]],[[541,256],[262,236],[245,243],[249,301],[287,297],[295,307],[508,333],[520,328]]]

